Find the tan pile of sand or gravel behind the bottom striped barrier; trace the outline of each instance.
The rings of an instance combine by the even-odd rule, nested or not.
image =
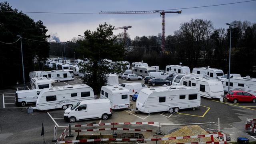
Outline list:
[[[171,134],[165,135],[164,138],[175,137],[175,136],[196,136],[196,135],[206,135],[208,134],[204,129],[200,126],[184,126],[179,130],[172,132]],[[200,138],[200,142],[208,142],[211,141],[210,137]],[[218,142],[217,138],[214,138],[214,142]],[[178,139],[178,140],[162,140],[161,144],[173,144],[173,143],[185,143],[185,142],[199,142],[199,138],[186,138],[186,139]]]

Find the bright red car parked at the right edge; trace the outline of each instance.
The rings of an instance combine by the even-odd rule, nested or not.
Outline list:
[[[249,94],[248,92],[242,90],[231,90],[226,95],[226,99],[228,101],[232,101],[234,103],[237,102],[253,102],[256,103],[256,96],[253,94]]]

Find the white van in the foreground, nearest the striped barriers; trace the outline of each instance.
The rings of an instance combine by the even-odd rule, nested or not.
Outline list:
[[[83,100],[68,108],[64,112],[64,120],[76,122],[77,120],[88,120],[102,118],[107,120],[111,114],[110,101],[108,99]]]

